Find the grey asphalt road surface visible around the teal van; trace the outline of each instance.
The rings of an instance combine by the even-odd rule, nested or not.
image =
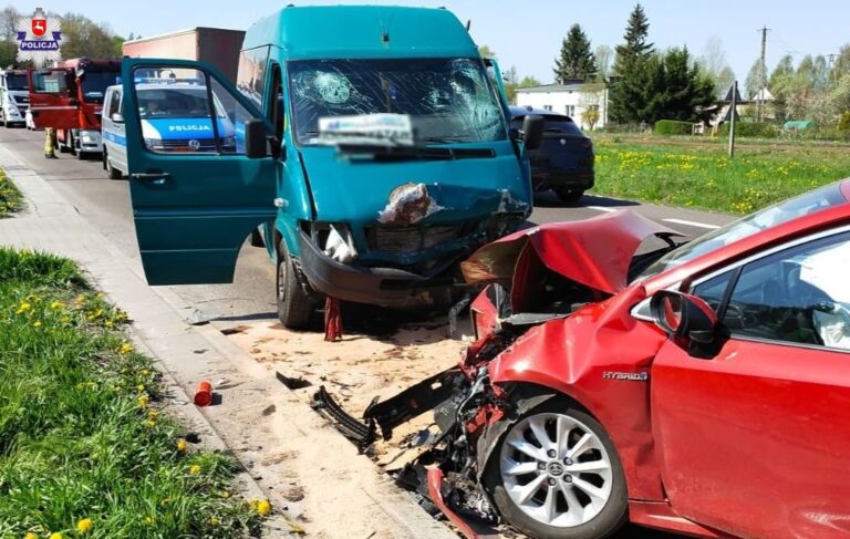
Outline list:
[[[76,210],[123,253],[138,259],[127,180],[110,180],[100,160],[79,160],[68,154],[45,159],[43,132],[0,127],[0,146],[11,149],[28,168],[48,180]],[[604,178],[598,178],[603,183]],[[641,205],[628,200],[587,195],[578,205],[563,206],[551,194],[536,200],[531,221],[536,224],[585,219],[620,208],[630,208],[686,236],[696,237],[732,218],[721,214]],[[274,268],[263,249],[245,247],[239,256],[232,284],[169,287],[187,304],[195,305],[187,318],[212,319],[219,328],[273,319]],[[673,539],[678,536],[626,528],[621,538]]]

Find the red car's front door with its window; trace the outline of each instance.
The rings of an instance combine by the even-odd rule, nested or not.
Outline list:
[[[850,533],[850,234],[698,282],[728,336],[709,359],[668,340],[652,367],[670,502],[742,537]]]

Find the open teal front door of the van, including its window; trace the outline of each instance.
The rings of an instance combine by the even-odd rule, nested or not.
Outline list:
[[[237,142],[246,122],[262,114],[201,62],[124,59],[122,81],[127,175],[148,283],[231,282],[245,238],[276,215],[274,159],[248,158]],[[154,93],[139,100],[139,84]]]

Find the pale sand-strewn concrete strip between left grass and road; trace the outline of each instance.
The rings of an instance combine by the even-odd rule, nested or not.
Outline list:
[[[167,288],[147,286],[141,263],[121,255],[108,239],[94,229],[44,179],[22,165],[8,148],[0,147],[0,167],[21,189],[28,209],[18,218],[0,221],[0,243],[56,252],[80,262],[110,299],[126,310],[133,320],[132,332],[139,348],[157,357],[166,380],[179,388],[177,400],[188,401],[199,380],[217,386],[221,403],[208,408],[178,406],[191,424],[203,425],[212,446],[228,447],[248,474],[241,478],[249,496],[265,493],[274,507],[289,518],[269,521],[267,537],[287,537],[289,520],[301,517],[318,521],[321,516],[304,515],[297,497],[287,496],[292,475],[284,455],[277,449],[282,439],[297,439],[321,466],[329,481],[355,489],[357,517],[338,504],[329,502],[346,529],[324,530],[323,537],[352,537],[353,530],[381,530],[371,537],[449,539],[457,536],[422,510],[406,493],[392,485],[365,456],[325,424],[309,406],[282,387],[273,371],[258,364],[211,325],[188,325],[180,311],[187,305]],[[245,428],[251,425],[251,428]],[[276,442],[278,440],[278,442]],[[289,498],[289,499],[288,499]],[[340,500],[343,501],[343,500]],[[348,500],[345,500],[348,501]],[[345,505],[345,504],[343,504]],[[371,512],[369,512],[371,510]],[[346,520],[348,518],[348,520]],[[309,533],[309,522],[303,526]],[[360,528],[357,528],[360,526]]]

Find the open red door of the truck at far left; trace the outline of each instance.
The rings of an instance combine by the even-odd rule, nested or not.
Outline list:
[[[73,129],[80,123],[74,70],[45,69],[27,71],[30,85],[30,110],[35,127]]]

